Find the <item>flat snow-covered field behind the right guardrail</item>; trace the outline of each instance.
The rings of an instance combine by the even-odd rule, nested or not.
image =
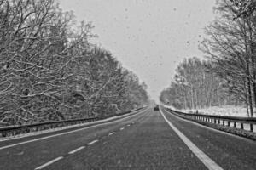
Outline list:
[[[172,106],[165,105],[165,107],[176,110]],[[183,111],[187,113],[189,112],[195,113],[196,110],[179,110],[179,111]],[[247,117],[246,107],[236,106],[236,105],[214,106],[214,107],[209,107],[204,109],[198,109],[198,112],[206,115]],[[254,116],[256,116],[255,113],[254,113]]]

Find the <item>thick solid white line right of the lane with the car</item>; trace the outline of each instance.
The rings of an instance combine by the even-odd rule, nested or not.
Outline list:
[[[161,115],[164,117],[165,121],[172,127],[172,130],[177,133],[180,139],[189,147],[189,149],[198,157],[198,159],[209,169],[209,170],[223,170],[222,167],[219,167],[215,161],[212,161],[203,151],[201,151],[195,144],[193,144],[183,133],[181,133],[172,122],[168,121],[164,113],[160,109]]]

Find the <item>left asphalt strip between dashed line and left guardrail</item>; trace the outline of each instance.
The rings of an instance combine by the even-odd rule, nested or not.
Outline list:
[[[140,111],[135,115],[110,122],[2,141],[0,142],[0,169],[35,169],[59,156],[67,155],[68,152],[84,144],[101,139],[119,127],[139,121],[147,114],[147,110]]]

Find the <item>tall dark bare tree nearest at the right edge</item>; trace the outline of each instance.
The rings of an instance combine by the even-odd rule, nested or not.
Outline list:
[[[244,99],[253,116],[256,101],[253,15],[234,20],[236,5],[227,0],[219,1],[216,10],[220,17],[207,26],[209,38],[202,42],[201,49],[214,63],[212,71],[226,80],[232,94]]]

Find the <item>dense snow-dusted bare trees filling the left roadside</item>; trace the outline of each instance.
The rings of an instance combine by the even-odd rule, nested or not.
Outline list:
[[[91,23],[55,0],[0,0],[0,123],[102,116],[145,105],[147,86],[105,49]]]

